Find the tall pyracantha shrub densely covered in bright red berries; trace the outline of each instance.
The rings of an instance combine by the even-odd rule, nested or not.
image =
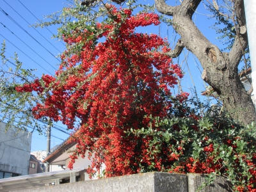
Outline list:
[[[45,102],[33,108],[35,118],[49,116],[77,130],[69,168],[78,155],[90,152],[88,172],[104,163],[106,177],[111,177],[140,172],[141,150],[148,141],[127,131],[147,127],[149,115],[167,115],[172,108],[170,88],[182,72],[164,54],[170,49],[161,37],[135,33],[140,26],[160,24],[158,15],[132,16],[129,9],[109,5],[107,9],[108,19],[103,22],[63,34],[68,49],[61,55],[56,76],[45,75],[17,91],[44,94]],[[182,93],[179,99],[187,96]]]

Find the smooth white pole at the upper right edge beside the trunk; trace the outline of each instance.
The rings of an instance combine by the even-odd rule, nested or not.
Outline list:
[[[256,93],[256,3],[255,0],[244,0],[244,11],[246,17],[246,29],[248,35],[249,49],[250,49],[250,58],[252,65],[252,84],[254,101]]]

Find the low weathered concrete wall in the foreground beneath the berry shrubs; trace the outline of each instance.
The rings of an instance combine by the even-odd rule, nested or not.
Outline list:
[[[24,189],[21,191],[195,192],[195,189],[201,186],[202,182],[204,182],[204,175],[189,175],[161,172],[139,173],[135,175],[127,175],[122,177],[86,180],[70,184],[60,184],[56,186],[45,186],[41,188]],[[203,191],[224,192],[232,190],[227,185],[227,180],[225,180],[223,177],[219,177],[211,187],[207,187]]]

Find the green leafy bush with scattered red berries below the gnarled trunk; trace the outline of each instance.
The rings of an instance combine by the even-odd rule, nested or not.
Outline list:
[[[207,111],[198,116],[189,111],[182,108],[176,113],[182,115],[173,118],[151,118],[147,129],[130,132],[145,143],[140,172],[211,173],[209,177],[227,176],[236,191],[256,191],[255,124],[244,127],[225,114]]]

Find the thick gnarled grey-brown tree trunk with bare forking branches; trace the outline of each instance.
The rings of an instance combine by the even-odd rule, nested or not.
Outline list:
[[[202,0],[184,0],[179,6],[169,6],[164,0],[155,0],[159,12],[173,16],[173,28],[181,36],[175,49],[168,52],[172,58],[179,56],[184,47],[195,54],[204,71],[202,79],[220,95],[230,116],[242,124],[256,120],[250,94],[246,92],[238,76],[237,66],[248,45],[247,33],[239,33],[230,52],[221,52],[211,44],[191,19]],[[239,27],[246,26],[243,0],[236,0],[236,16]]]

